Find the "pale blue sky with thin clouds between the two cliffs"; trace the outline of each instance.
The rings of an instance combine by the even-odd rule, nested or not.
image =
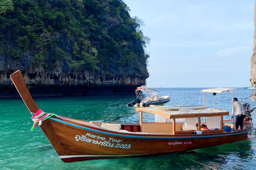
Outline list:
[[[147,87],[250,86],[254,0],[124,0],[145,22]]]

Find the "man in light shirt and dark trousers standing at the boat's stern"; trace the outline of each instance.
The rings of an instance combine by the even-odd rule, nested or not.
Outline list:
[[[234,102],[234,111],[236,112],[236,129],[239,128],[242,130],[244,125],[243,125],[243,121],[244,121],[244,117],[245,117],[245,110],[244,107],[242,105],[242,103],[238,102],[238,99],[235,97],[233,99]],[[231,117],[233,119],[233,116]]]

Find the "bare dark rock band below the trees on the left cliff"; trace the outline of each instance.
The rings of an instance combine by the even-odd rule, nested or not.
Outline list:
[[[114,66],[113,66],[114,67]],[[10,74],[21,70],[24,80],[34,97],[63,95],[131,94],[136,87],[144,85],[146,74],[136,74],[131,68],[126,76],[114,68],[111,72],[74,72],[68,63],[60,63],[55,70],[31,65],[30,54],[13,60],[5,53],[0,54],[0,97],[18,97]],[[127,75],[128,74],[128,75]]]

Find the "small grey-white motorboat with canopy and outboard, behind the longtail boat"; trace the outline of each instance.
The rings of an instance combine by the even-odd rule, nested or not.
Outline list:
[[[141,93],[145,92],[145,97]],[[169,96],[160,96],[160,90],[155,90],[147,87],[137,87],[135,90],[136,99],[127,104],[127,106],[149,107],[149,105],[163,105],[170,101]]]

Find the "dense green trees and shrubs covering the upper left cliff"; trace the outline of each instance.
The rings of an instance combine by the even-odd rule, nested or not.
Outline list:
[[[1,0],[0,53],[32,66],[54,70],[61,63],[75,71],[148,75],[149,38],[122,0]]]

